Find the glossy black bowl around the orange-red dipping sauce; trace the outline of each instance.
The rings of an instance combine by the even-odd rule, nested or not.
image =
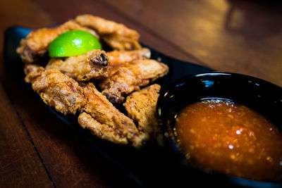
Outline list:
[[[243,185],[247,187],[282,187],[282,182],[259,182],[221,173],[206,173],[187,165],[173,132],[178,113],[189,104],[206,98],[230,99],[268,118],[282,130],[282,88],[255,77],[235,73],[202,73],[184,77],[162,90],[157,103],[158,120],[164,144],[185,177],[205,184]],[[182,172],[181,171],[181,172]]]

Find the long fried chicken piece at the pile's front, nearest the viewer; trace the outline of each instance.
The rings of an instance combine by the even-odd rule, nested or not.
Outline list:
[[[94,84],[83,87],[87,104],[78,117],[78,123],[92,134],[117,144],[142,145],[144,134],[138,132],[133,120],[118,111]]]

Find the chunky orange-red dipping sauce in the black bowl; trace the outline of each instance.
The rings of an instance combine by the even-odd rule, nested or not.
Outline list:
[[[259,181],[282,180],[282,136],[264,116],[224,99],[183,109],[176,134],[197,168]]]

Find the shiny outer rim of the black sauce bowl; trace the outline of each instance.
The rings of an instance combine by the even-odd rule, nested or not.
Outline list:
[[[247,79],[247,80],[251,80],[251,82],[255,82],[254,84],[256,84],[256,82],[259,82],[261,84],[266,84],[269,85],[270,87],[273,87],[274,89],[278,89],[279,94],[281,94],[281,101],[282,101],[282,87],[278,86],[277,84],[271,83],[269,81],[260,79],[258,77],[254,77],[251,75],[244,75],[244,74],[240,74],[240,73],[229,73],[229,72],[220,72],[220,71],[209,71],[209,72],[205,72],[205,73],[198,73],[198,74],[193,74],[193,75],[187,75],[185,77],[181,77],[180,79],[171,82],[170,84],[168,84],[164,89],[161,90],[160,94],[159,94],[159,99],[157,101],[157,120],[159,122],[159,125],[161,127],[161,133],[164,136],[164,139],[166,140],[165,142],[168,144],[168,149],[173,151],[173,152],[177,152],[178,155],[181,155],[184,157],[184,153],[183,151],[181,151],[179,144],[176,142],[175,139],[173,139],[171,136],[171,134],[168,131],[168,125],[166,125],[166,123],[164,123],[163,117],[162,117],[162,111],[163,109],[161,108],[161,104],[165,103],[165,97],[169,96],[169,94],[171,94],[171,91],[173,90],[172,88],[175,87],[181,87],[183,84],[185,84],[185,82],[191,80],[191,79],[195,79],[197,77],[201,78],[201,77],[214,77],[214,76],[222,76],[222,75],[226,75],[226,76],[230,76],[230,77],[240,77],[241,79]],[[260,85],[259,85],[260,87]],[[280,96],[280,95],[279,95]],[[187,166],[185,167],[187,168]],[[195,168],[191,168],[192,170],[197,170],[197,171],[202,171],[202,173],[205,173],[204,170],[200,170],[200,169],[195,169]],[[205,173],[207,174],[207,173]],[[279,182],[271,182],[271,181],[258,181],[258,180],[249,180],[243,177],[235,177],[232,175],[226,175],[223,173],[218,173],[213,171],[212,172],[213,175],[219,175],[220,177],[224,177],[226,178],[229,182],[233,182],[235,184],[240,184],[243,186],[247,186],[247,187],[282,187],[282,181]]]

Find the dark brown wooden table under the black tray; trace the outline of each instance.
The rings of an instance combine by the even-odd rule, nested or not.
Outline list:
[[[131,27],[147,46],[215,70],[282,86],[282,4],[235,0],[2,0],[4,30],[92,13]],[[1,53],[1,187],[136,187],[6,73]]]

